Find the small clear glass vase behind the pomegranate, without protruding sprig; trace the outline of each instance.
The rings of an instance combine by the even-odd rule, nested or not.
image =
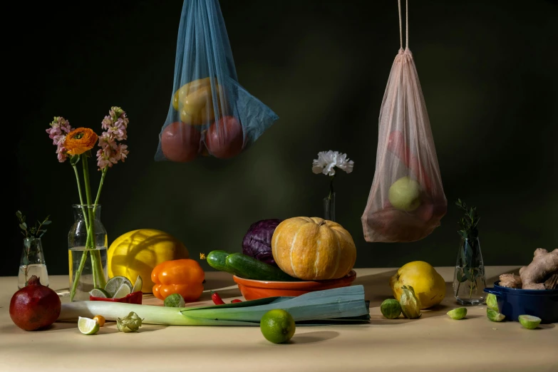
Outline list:
[[[48,272],[43,254],[41,238],[31,237],[24,239],[24,249],[19,262],[17,286],[19,289],[27,285],[31,276],[36,275],[43,286],[48,286]]]

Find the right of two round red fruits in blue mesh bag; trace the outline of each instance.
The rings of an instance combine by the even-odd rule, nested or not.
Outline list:
[[[238,155],[244,146],[242,125],[234,116],[223,116],[205,133],[205,145],[211,155],[221,159]]]

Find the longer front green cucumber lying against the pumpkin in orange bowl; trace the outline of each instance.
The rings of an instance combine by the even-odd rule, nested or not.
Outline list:
[[[254,259],[242,253],[231,253],[225,259],[227,268],[234,275],[244,279],[269,280],[269,281],[298,281],[279,267],[274,267],[265,262]]]

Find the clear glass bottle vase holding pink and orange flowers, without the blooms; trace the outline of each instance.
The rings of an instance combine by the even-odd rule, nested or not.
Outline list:
[[[86,301],[91,289],[104,289],[108,280],[108,237],[100,222],[100,205],[72,207],[74,223],[68,232],[70,298]]]

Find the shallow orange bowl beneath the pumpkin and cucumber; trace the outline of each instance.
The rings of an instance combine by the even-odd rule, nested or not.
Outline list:
[[[264,281],[232,276],[244,299],[263,299],[275,296],[300,296],[312,291],[350,286],[356,279],[356,272],[351,270],[345,277],[319,281]]]

